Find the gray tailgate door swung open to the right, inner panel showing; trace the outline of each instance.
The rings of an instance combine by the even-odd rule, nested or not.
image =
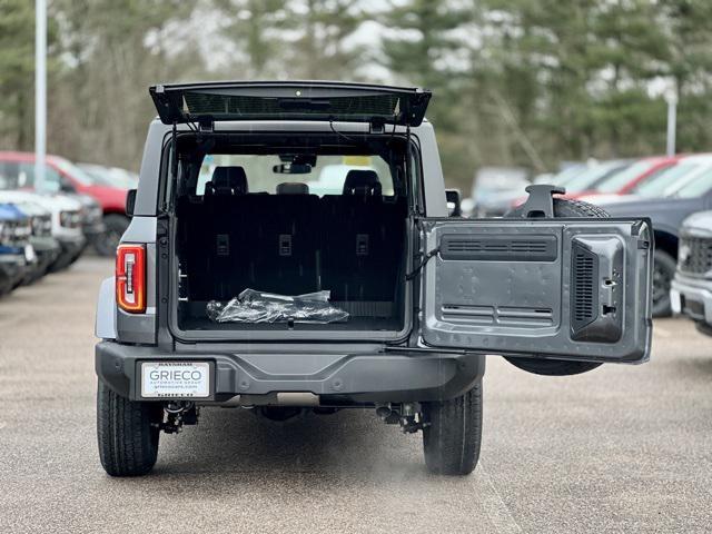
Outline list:
[[[423,219],[422,343],[507,356],[644,362],[650,219]]]

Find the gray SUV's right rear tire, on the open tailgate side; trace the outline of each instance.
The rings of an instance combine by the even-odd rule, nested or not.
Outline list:
[[[482,443],[482,380],[466,394],[423,403],[423,451],[428,471],[468,475],[479,459]]]

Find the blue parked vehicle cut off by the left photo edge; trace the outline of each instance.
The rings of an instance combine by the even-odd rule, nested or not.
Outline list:
[[[34,260],[30,218],[12,204],[0,204],[0,296],[17,287]]]

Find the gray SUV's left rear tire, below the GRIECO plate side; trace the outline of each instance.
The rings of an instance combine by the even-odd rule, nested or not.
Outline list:
[[[129,400],[99,380],[97,437],[105,471],[111,476],[139,476],[151,471],[162,417],[159,403]]]

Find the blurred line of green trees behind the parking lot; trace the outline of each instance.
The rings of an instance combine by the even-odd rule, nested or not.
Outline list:
[[[0,149],[33,145],[33,2],[0,0]],[[197,79],[427,87],[449,185],[485,165],[680,151],[712,118],[709,0],[50,0],[48,148],[137,169],[147,88]]]

